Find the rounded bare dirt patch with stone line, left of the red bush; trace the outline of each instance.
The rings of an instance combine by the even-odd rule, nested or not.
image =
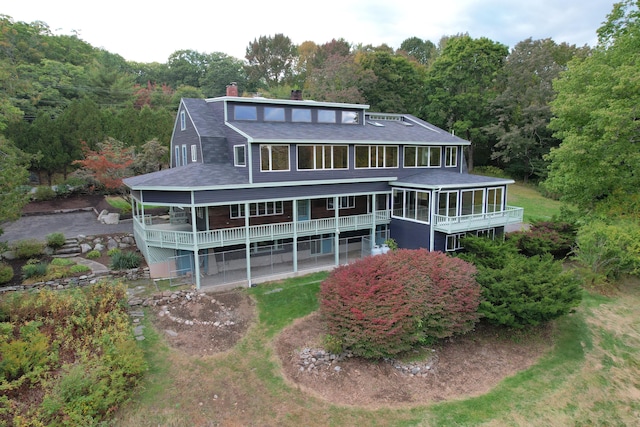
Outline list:
[[[189,355],[208,356],[229,350],[255,319],[255,304],[241,291],[198,293],[154,307],[153,323],[170,346]]]

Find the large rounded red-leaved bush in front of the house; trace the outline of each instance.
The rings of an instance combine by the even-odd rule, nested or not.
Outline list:
[[[442,252],[401,249],[338,267],[320,287],[333,341],[366,358],[390,357],[473,329],[475,267]]]

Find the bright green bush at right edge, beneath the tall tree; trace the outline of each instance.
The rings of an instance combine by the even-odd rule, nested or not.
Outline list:
[[[640,225],[631,220],[612,224],[592,221],[578,231],[573,259],[592,285],[640,272]]]

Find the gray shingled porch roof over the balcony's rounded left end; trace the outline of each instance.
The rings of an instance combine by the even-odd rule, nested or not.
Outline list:
[[[233,165],[189,163],[186,166],[125,178],[123,182],[133,189],[192,189],[248,184],[249,180]]]

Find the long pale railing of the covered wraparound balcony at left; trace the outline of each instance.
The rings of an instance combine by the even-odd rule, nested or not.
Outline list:
[[[375,212],[375,224],[388,224],[389,220],[389,211]],[[136,233],[144,236],[148,245],[193,250],[196,242],[199,249],[244,244],[247,242],[247,230],[250,242],[287,239],[292,238],[294,234],[297,236],[315,236],[324,233],[335,233],[336,230],[340,232],[362,230],[373,227],[374,214],[343,216],[338,217],[337,221],[335,217],[331,217],[299,221],[297,223],[280,222],[252,225],[248,228],[234,227],[198,231],[195,233],[195,242],[194,233],[191,231],[183,231],[184,229],[171,230],[171,226],[167,224],[162,224],[162,227],[154,227],[146,218],[143,222],[134,218],[134,228]]]

